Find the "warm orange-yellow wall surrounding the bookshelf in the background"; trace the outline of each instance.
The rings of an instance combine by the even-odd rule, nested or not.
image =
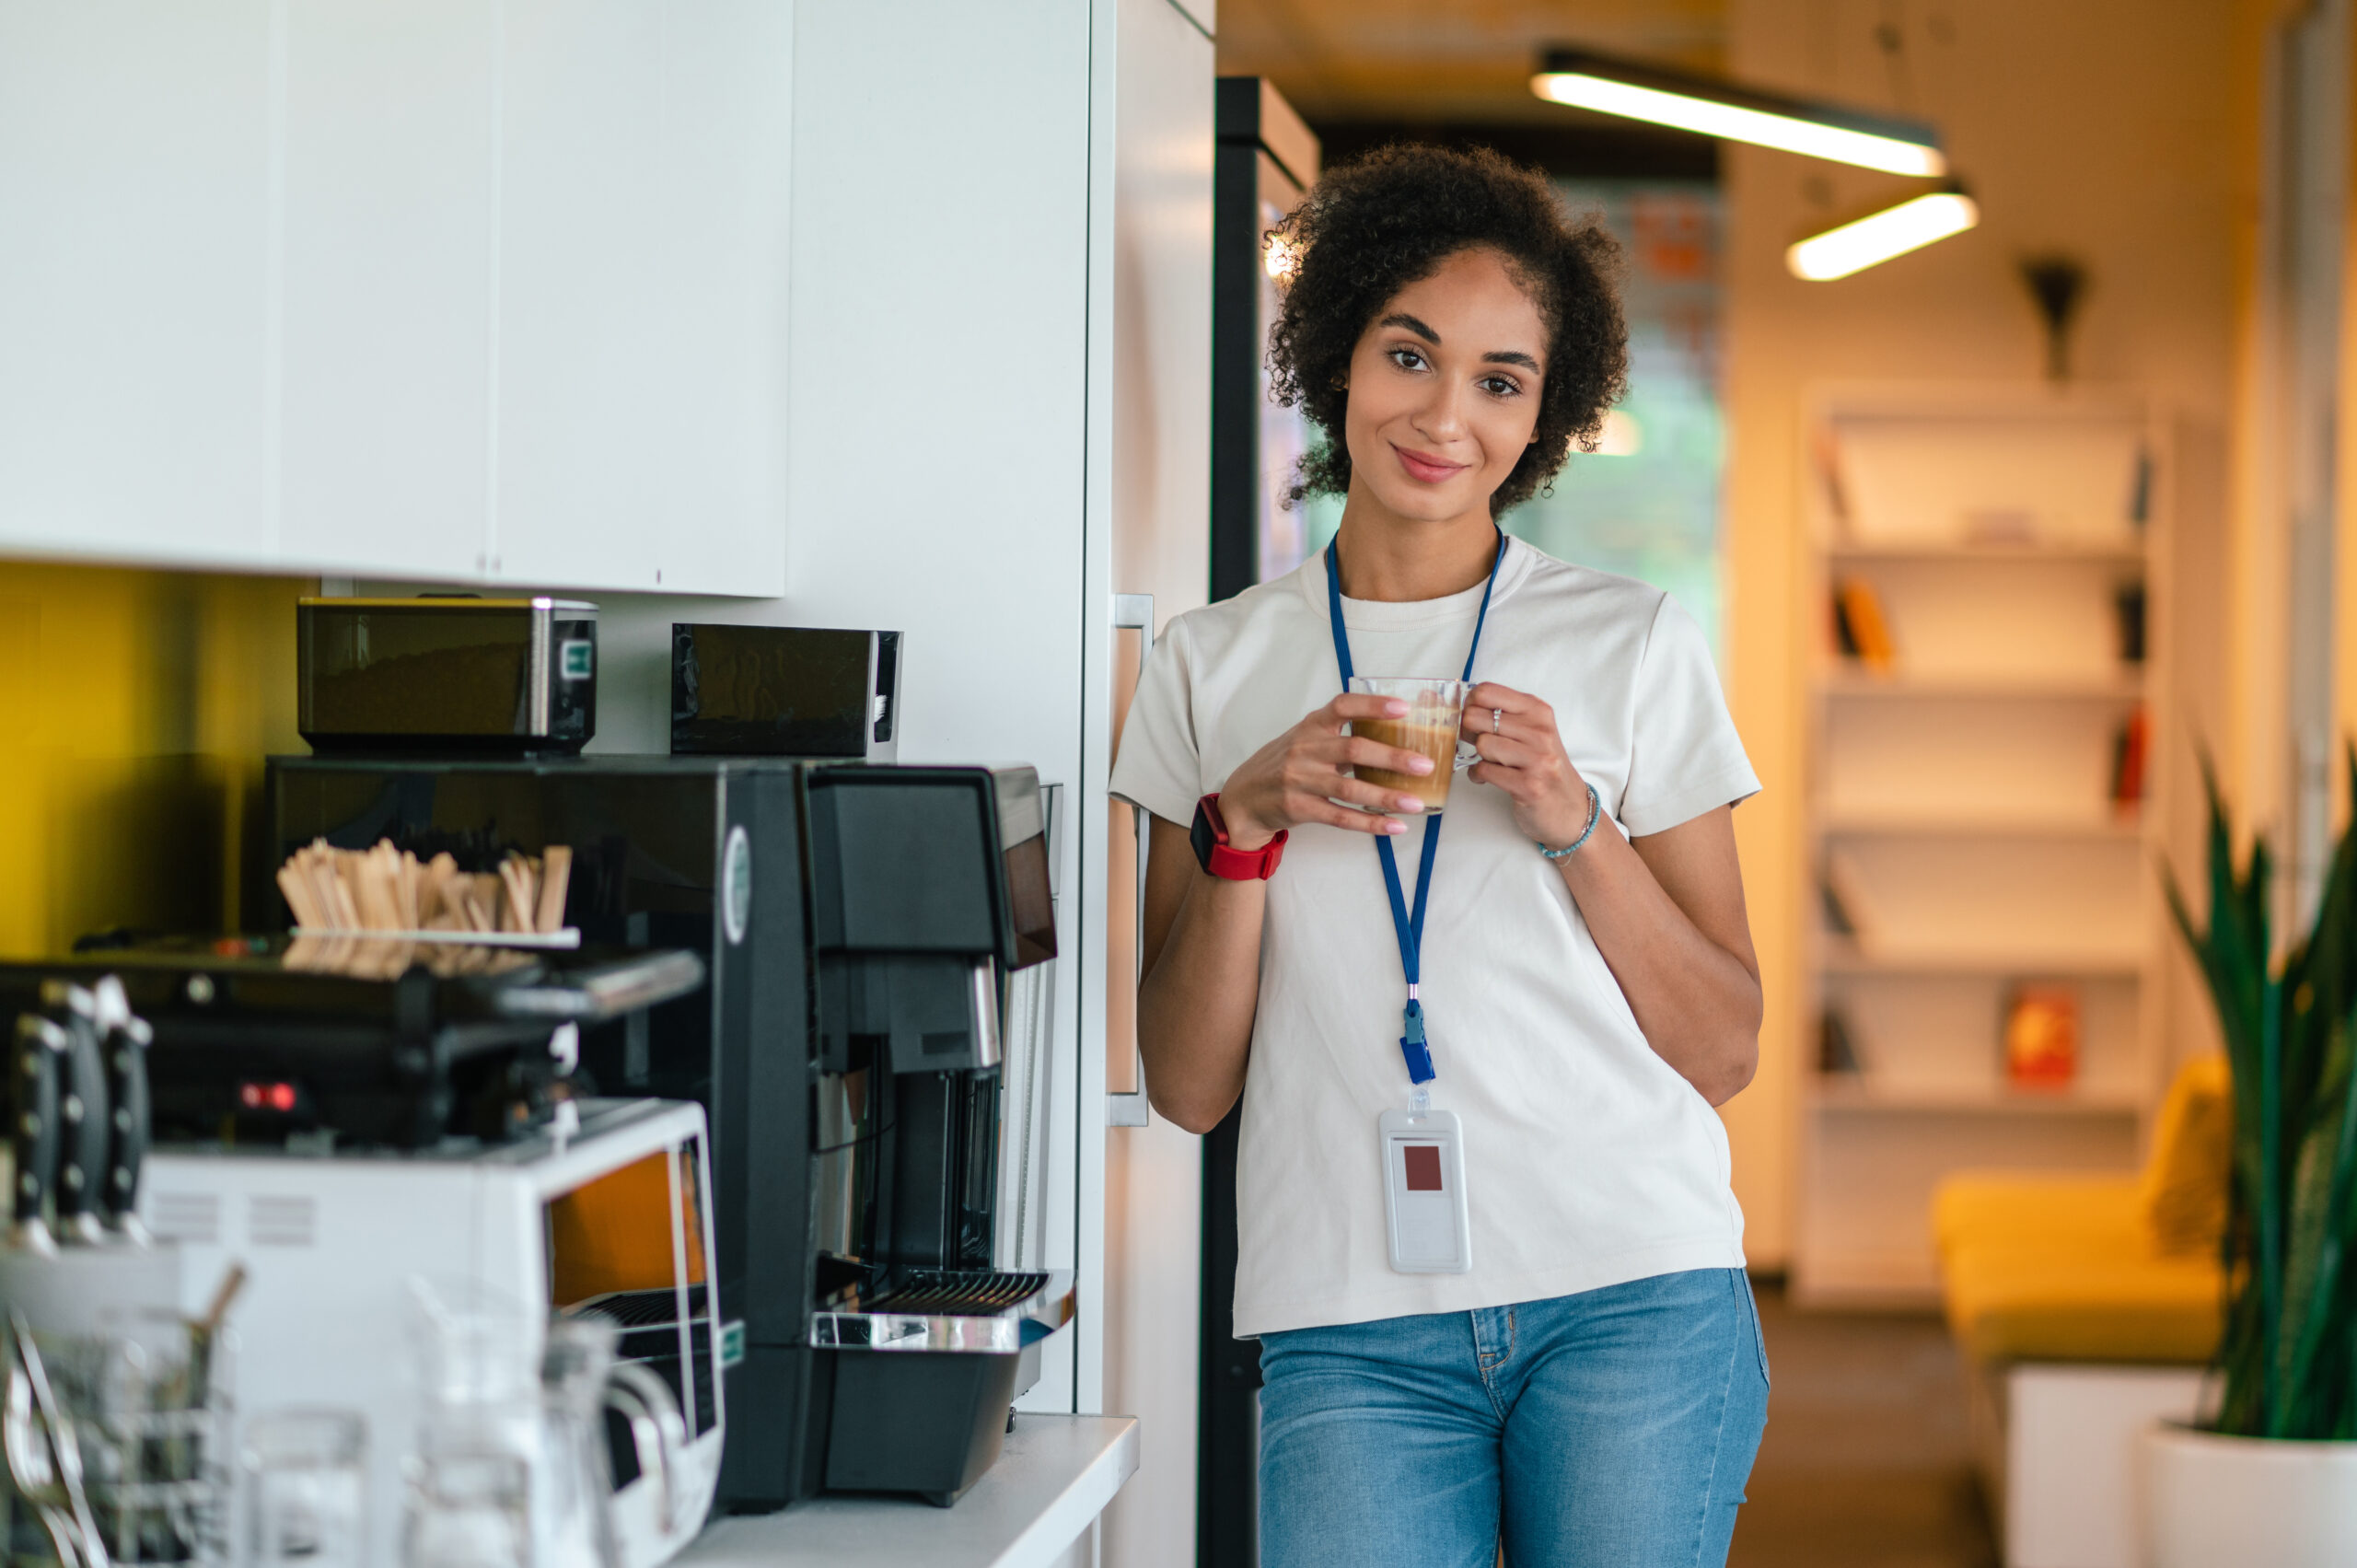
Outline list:
[[[2079,380],[2138,384],[2176,415],[2178,693],[2164,717],[2171,858],[2199,863],[2192,740],[2230,726],[2227,580],[2237,554],[2232,439],[2258,182],[2258,0],[1978,0],[1916,12],[1897,71],[1879,0],[1732,0],[1728,68],[1768,87],[1935,120],[1982,226],[1836,283],[1784,271],[1784,245],[1909,186],[1886,174],[1730,149],[1728,684],[1768,792],[1737,811],[1770,988],[1758,1082],[1728,1106],[1735,1188],[1756,1264],[1791,1238],[1805,1056],[1801,922],[1803,679],[1820,634],[1803,589],[1801,408],[1822,380],[2032,382],[2041,330],[2015,264],[2062,250],[2091,271]],[[1907,99],[1900,101],[1904,83]],[[1992,790],[2003,780],[1992,778]],[[2171,1014],[2204,1007],[2185,976]]]

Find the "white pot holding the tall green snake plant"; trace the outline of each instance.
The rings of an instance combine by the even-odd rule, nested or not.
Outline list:
[[[2225,1438],[2161,1422],[2143,1448],[2147,1568],[2357,1563],[2357,1443]]]

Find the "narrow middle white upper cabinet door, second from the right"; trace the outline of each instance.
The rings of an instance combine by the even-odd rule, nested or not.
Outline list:
[[[285,566],[486,566],[495,24],[493,0],[285,9]]]

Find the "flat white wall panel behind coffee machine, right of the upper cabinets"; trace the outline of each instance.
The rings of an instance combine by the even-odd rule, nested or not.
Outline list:
[[[1087,0],[794,7],[785,594],[599,594],[594,750],[667,750],[672,620],[884,627],[903,762],[1021,759],[1068,785],[1049,1261],[1082,1269],[1080,974],[1101,964],[1103,769],[1082,764],[1089,330]],[[1091,837],[1094,835],[1094,837]],[[1098,1012],[1101,1019],[1101,1012]],[[1101,1061],[1101,1023],[1087,1030]],[[1030,1408],[1070,1410],[1058,1335]],[[1094,1375],[1089,1401],[1096,1398]],[[1096,1403],[1082,1403],[1094,1410]]]

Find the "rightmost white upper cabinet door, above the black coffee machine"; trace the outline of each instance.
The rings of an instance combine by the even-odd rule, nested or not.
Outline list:
[[[792,7],[507,0],[490,573],[785,585]]]

